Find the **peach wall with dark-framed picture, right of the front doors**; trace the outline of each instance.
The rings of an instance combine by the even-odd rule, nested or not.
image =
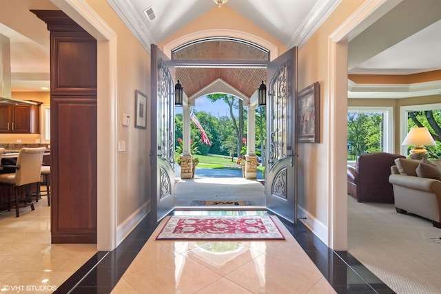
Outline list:
[[[328,230],[329,191],[332,183],[329,176],[330,138],[324,132],[325,122],[331,117],[329,97],[327,97],[328,76],[328,38],[364,0],[343,0],[338,8],[323,23],[311,38],[298,50],[298,90],[311,83],[320,83],[320,143],[298,144],[298,204]],[[341,97],[347,99],[347,97]],[[338,109],[339,114],[347,116],[347,109]],[[342,175],[346,176],[346,175]],[[324,234],[325,235],[325,234]],[[327,236],[322,236],[322,239]],[[327,242],[327,240],[324,240]]]

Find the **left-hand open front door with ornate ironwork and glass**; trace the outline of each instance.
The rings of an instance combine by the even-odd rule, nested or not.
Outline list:
[[[152,45],[151,207],[158,222],[174,209],[174,65]]]

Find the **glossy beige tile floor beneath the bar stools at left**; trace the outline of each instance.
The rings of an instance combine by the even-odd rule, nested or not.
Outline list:
[[[96,244],[51,244],[45,197],[0,211],[0,293],[52,293],[96,254]]]

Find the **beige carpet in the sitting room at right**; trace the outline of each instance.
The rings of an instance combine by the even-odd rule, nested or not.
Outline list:
[[[349,253],[396,293],[441,293],[441,229],[348,196]]]

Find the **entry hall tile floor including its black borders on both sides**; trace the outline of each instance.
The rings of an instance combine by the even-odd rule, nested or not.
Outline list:
[[[201,258],[194,242],[154,241],[158,228],[150,226],[147,216],[118,248],[94,255],[57,293],[394,293],[349,253],[332,251],[301,222],[278,224],[285,242],[241,242],[237,255]]]

